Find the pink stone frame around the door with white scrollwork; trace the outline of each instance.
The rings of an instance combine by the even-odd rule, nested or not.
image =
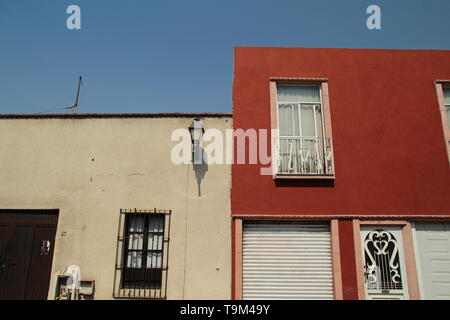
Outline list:
[[[403,251],[405,256],[405,271],[408,284],[408,294],[411,300],[420,300],[419,281],[417,276],[416,258],[411,223],[404,220],[353,220],[353,240],[355,244],[356,282],[358,299],[366,299],[364,271],[362,265],[361,226],[399,226],[402,232]]]

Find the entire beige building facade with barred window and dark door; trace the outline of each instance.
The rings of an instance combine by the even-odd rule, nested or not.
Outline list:
[[[23,219],[27,214],[40,217],[42,212],[57,215],[54,241],[36,234],[30,240],[39,242],[34,244],[38,246],[37,253],[32,253],[35,259],[52,257],[48,299],[58,297],[61,276],[67,276],[70,268],[76,267],[79,280],[87,285],[80,289],[87,292],[84,298],[231,298],[230,166],[171,161],[177,143],[171,141],[172,133],[176,129],[187,130],[197,116],[205,129],[225,132],[232,128],[229,114],[0,117],[3,238],[9,234],[11,242],[19,227],[26,228],[20,221],[13,221],[15,214]],[[134,234],[144,237],[134,239],[138,241],[134,248],[130,238],[132,232],[139,232],[140,220],[135,221],[133,230],[131,220],[127,226],[128,213],[140,215],[146,224],[141,230],[145,234]],[[161,217],[163,226],[152,231],[155,214]],[[2,216],[9,220],[1,220]],[[46,227],[45,223],[41,226]],[[25,231],[24,234],[30,234]],[[3,251],[8,239],[2,240]],[[155,246],[158,241],[161,245]],[[150,250],[152,245],[154,252]],[[139,252],[142,246],[144,251]],[[137,251],[125,253],[127,248]],[[17,251],[10,246],[9,253],[5,252],[3,260],[10,259],[4,261],[0,271],[5,279],[28,280],[23,292],[14,293],[11,289],[3,292],[2,298],[8,298],[8,294],[29,297],[26,291],[32,290],[33,278],[39,278],[45,267],[14,270],[21,263],[20,259],[14,262],[11,258]],[[123,267],[127,263],[128,267],[136,263],[142,267],[144,256],[147,266],[152,269],[157,265],[159,273],[137,278],[131,274],[128,280],[133,283],[135,277],[139,282],[149,276],[160,282],[152,280],[138,290],[133,286],[122,290]],[[93,295],[89,289],[92,285]]]

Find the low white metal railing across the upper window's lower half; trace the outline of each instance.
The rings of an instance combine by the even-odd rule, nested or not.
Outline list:
[[[333,175],[330,138],[282,136],[277,141],[278,171],[281,175]]]

